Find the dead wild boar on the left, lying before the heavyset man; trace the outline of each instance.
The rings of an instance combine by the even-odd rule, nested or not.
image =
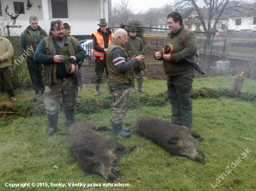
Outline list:
[[[136,146],[125,148],[108,135],[95,130],[99,128],[87,122],[75,124],[68,133],[69,151],[84,172],[100,174],[108,181],[119,181],[117,157],[130,153]]]

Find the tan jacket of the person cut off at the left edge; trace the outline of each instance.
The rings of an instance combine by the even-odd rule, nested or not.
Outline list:
[[[0,56],[6,59],[4,62],[0,62],[0,68],[6,68],[12,64],[13,45],[4,37],[0,37]]]

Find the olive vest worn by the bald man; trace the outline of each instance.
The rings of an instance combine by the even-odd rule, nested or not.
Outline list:
[[[125,72],[119,72],[116,70],[115,65],[111,59],[111,52],[114,48],[119,48],[124,54],[125,62],[129,61],[129,57],[122,45],[117,42],[116,40],[113,40],[111,44],[108,46],[107,51],[107,70],[108,70],[108,86],[109,87],[115,87],[117,85],[123,84],[123,83],[132,83],[133,79],[133,70],[127,70]]]

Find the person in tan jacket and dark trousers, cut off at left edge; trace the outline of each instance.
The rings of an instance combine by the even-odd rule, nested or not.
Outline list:
[[[12,102],[16,102],[14,89],[11,83],[12,70],[9,67],[12,64],[13,46],[11,42],[4,37],[0,37],[0,76],[5,84],[7,95]]]

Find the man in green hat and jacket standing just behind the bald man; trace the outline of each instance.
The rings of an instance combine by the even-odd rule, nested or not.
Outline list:
[[[128,43],[125,44],[124,48],[128,54],[129,59],[132,59],[134,55],[135,56],[141,55],[141,51],[143,50],[143,42],[141,38],[136,37],[136,34],[138,31],[135,26],[131,26],[128,32],[130,36],[128,37]],[[142,60],[141,62],[144,62],[144,60]],[[135,68],[133,68],[133,70],[134,70],[134,73],[133,73],[134,75],[133,75],[133,81],[131,85],[132,93],[135,93],[135,84],[134,84],[135,77],[137,79],[138,91],[141,93],[146,93],[146,91],[142,89],[143,72],[136,70]]]

